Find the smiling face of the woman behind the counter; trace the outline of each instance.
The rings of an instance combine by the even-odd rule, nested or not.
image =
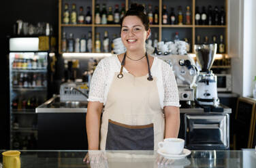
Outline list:
[[[145,48],[145,41],[150,35],[150,28],[145,30],[142,21],[137,16],[127,16],[123,20],[121,39],[130,51]]]

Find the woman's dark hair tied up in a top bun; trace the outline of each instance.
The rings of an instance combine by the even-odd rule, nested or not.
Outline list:
[[[146,16],[146,14],[144,14],[144,6],[142,5],[138,5],[137,3],[132,3],[130,9],[127,10],[127,12],[125,13],[125,16],[123,16],[123,18],[121,18],[121,28],[122,28],[122,24],[123,24],[123,20],[125,19],[126,16],[137,16],[138,18],[140,18],[140,20],[142,20],[142,24],[144,25],[145,29],[148,30],[149,28],[149,20],[148,20],[148,16]]]

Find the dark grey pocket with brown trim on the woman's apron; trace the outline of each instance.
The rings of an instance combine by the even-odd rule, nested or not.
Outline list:
[[[108,120],[106,150],[154,150],[154,125],[125,125]]]

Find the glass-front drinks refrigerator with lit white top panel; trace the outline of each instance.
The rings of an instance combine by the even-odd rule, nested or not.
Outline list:
[[[14,39],[16,39],[16,43],[14,43]],[[23,40],[10,38],[11,149],[37,148],[35,108],[47,100],[49,56],[48,51],[38,51],[38,43],[35,42],[37,39],[36,37],[23,38]],[[27,45],[20,47],[20,45],[24,45],[22,43],[27,43]],[[33,47],[33,45],[35,46]]]

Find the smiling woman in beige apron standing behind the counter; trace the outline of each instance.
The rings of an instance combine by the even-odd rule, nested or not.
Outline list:
[[[143,11],[132,5],[121,20],[127,51],[104,58],[93,73],[86,114],[89,150],[157,150],[163,138],[178,136],[176,80],[167,63],[146,53],[150,28]]]

